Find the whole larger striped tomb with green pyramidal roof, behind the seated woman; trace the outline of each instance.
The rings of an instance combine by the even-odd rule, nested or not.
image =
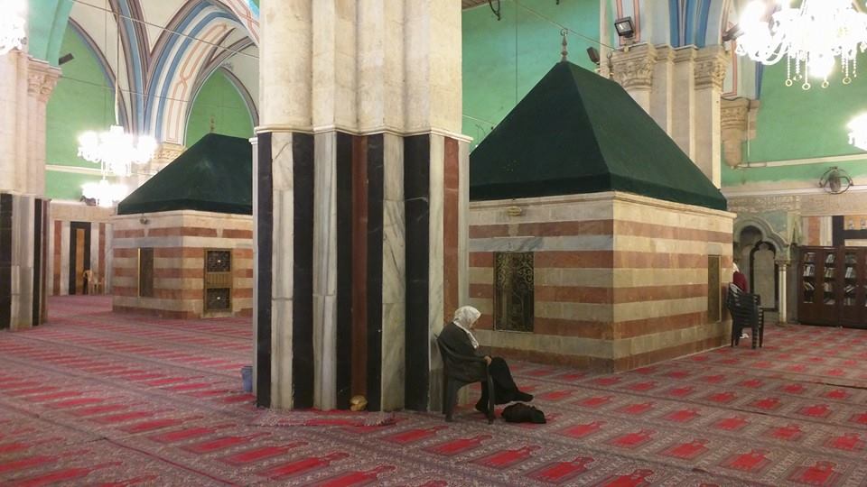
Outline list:
[[[734,215],[617,83],[558,63],[470,161],[494,354],[620,371],[727,343]]]

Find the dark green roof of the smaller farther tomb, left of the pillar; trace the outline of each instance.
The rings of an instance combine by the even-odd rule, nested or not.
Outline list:
[[[118,215],[172,210],[253,215],[253,149],[209,133],[117,205]]]

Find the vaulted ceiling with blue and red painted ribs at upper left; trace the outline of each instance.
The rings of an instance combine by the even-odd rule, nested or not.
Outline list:
[[[198,89],[223,63],[238,56],[256,59],[258,6],[252,0],[58,0],[56,4],[68,5],[52,7],[51,14],[65,15],[64,29],[71,26],[93,51],[107,85],[114,87],[114,79],[120,84],[121,122],[130,131],[150,133],[161,142],[182,143]],[[120,53],[115,36],[122,46]],[[120,67],[115,66],[116,60]],[[255,73],[246,77],[233,73],[228,78],[256,118],[257,63],[243,64]]]

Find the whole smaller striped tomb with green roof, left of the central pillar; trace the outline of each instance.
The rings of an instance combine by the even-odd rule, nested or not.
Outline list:
[[[252,152],[210,133],[117,206],[112,308],[252,316]]]

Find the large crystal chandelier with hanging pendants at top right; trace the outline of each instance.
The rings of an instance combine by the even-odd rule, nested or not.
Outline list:
[[[791,7],[790,0],[772,0],[775,11],[768,19],[768,2],[753,0],[739,24],[736,52],[763,64],[777,64],[787,58],[786,86],[810,78],[828,77],[840,58],[844,85],[858,76],[856,56],[867,50],[867,14],[855,11],[852,0],[803,0]],[[793,72],[794,70],[794,72]]]

